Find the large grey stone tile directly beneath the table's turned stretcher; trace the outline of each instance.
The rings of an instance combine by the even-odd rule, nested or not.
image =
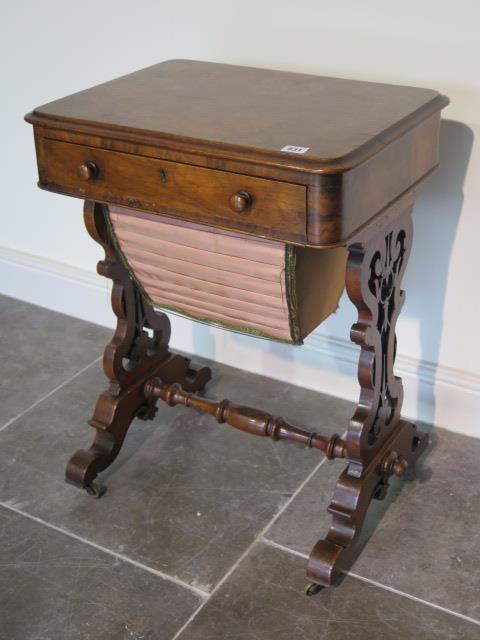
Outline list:
[[[92,500],[63,477],[69,456],[93,437],[86,421],[105,387],[99,369],[90,368],[0,433],[0,501],[208,591],[321,454],[161,404],[153,422],[132,426],[104,474],[107,495]],[[302,422],[321,427],[323,421],[327,433],[351,411],[342,400],[220,365],[208,393],[290,418],[300,398]]]

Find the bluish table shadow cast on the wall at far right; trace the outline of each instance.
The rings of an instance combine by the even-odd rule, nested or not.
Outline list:
[[[423,187],[413,210],[413,248],[403,281],[403,313],[418,318],[422,361],[438,362],[450,257],[463,206],[463,183],[473,146],[465,124],[442,120],[440,166]],[[424,387],[426,385],[423,385]],[[418,398],[428,422],[435,420],[435,389]],[[425,395],[425,394],[429,394]]]

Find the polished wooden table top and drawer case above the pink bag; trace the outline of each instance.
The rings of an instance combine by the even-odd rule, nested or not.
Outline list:
[[[27,120],[36,131],[44,189],[329,247],[350,241],[435,168],[440,110],[447,102],[427,89],[173,60],[39,107]],[[133,192],[121,200],[115,188],[110,193],[95,182],[72,184],[54,153],[62,149],[63,157],[64,147],[52,146],[53,140],[87,146],[87,160],[93,148],[140,156],[128,163],[122,155],[103,156],[110,177],[121,174],[122,190],[129,185]],[[308,150],[284,152],[286,145]],[[181,208],[193,167],[176,169],[181,202],[169,209],[165,192],[172,182],[158,180],[162,167],[154,159],[219,173],[195,181],[204,198],[187,198]],[[250,183],[254,176],[270,186]],[[207,186],[213,178],[220,194]],[[274,188],[273,181],[282,184]],[[308,192],[289,192],[285,183]],[[140,185],[145,193],[137,192]],[[242,190],[253,204],[235,218],[229,201]],[[275,215],[270,198],[280,205]],[[202,206],[207,215],[199,213]]]

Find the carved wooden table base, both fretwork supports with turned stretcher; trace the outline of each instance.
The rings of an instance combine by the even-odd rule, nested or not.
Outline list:
[[[187,358],[169,351],[168,318],[144,299],[118,259],[105,214],[102,205],[85,204],[87,228],[105,249],[99,273],[114,281],[112,305],[118,323],[104,355],[110,384],[90,420],[96,431],[93,444],[70,459],[67,480],[98,495],[95,477],[116,458],[132,420],[154,417],[158,399],[204,411],[250,434],[302,443],[330,459],[346,458],[349,464],[328,508],[330,530],[313,548],[307,565],[313,581],[308,593],[318,585],[329,586],[352,558],[371,500],[384,498],[389,478],[412,468],[428,443],[426,434],[401,419],[403,389],[393,371],[395,324],[404,302],[400,284],[412,240],[410,211],[370,228],[348,247],[346,286],[358,310],[351,339],[360,346],[360,399],[345,440],[306,431],[259,409],[192,393],[204,387],[210,369],[194,369]]]

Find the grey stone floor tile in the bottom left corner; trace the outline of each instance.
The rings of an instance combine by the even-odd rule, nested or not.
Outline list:
[[[170,640],[202,602],[0,507],[2,640]]]

